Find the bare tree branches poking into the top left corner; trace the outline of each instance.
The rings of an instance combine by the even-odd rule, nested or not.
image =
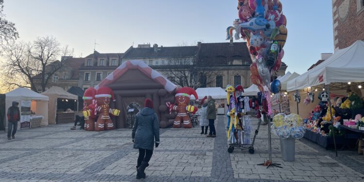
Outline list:
[[[4,8],[3,3],[4,0],[0,0],[0,47],[2,47],[4,43],[9,43],[19,37],[15,24],[6,20],[5,15],[2,13]]]

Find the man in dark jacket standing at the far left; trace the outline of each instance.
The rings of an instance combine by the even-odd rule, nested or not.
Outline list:
[[[13,137],[13,139],[15,139],[15,133],[17,132],[17,122],[20,121],[20,111],[17,107],[18,105],[18,102],[13,101],[12,106],[8,109],[8,140],[11,140],[10,135]]]

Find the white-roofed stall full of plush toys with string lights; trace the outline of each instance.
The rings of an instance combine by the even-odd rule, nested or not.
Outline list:
[[[363,57],[364,41],[358,40],[287,83],[293,100],[301,100],[297,102],[299,113],[311,115],[308,117],[310,130],[333,136],[334,144],[335,134],[343,135],[335,128],[344,119],[354,119],[349,113],[363,110]]]

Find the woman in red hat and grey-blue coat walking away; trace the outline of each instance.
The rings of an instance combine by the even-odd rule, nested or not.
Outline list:
[[[153,154],[154,144],[156,148],[159,145],[159,121],[153,110],[151,99],[145,99],[144,108],[136,114],[132,127],[132,142],[134,142],[134,149],[139,149],[136,179],[146,178],[144,170],[149,166],[148,162]]]

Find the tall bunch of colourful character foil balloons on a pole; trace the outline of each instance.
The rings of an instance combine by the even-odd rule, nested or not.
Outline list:
[[[271,75],[281,67],[287,39],[287,20],[279,0],[238,0],[238,19],[227,28],[227,40],[243,38],[247,41],[252,64],[251,82],[261,92],[264,87],[272,93],[281,90],[279,80],[271,84]],[[235,34],[233,35],[233,31]],[[277,91],[278,90],[278,91]]]

